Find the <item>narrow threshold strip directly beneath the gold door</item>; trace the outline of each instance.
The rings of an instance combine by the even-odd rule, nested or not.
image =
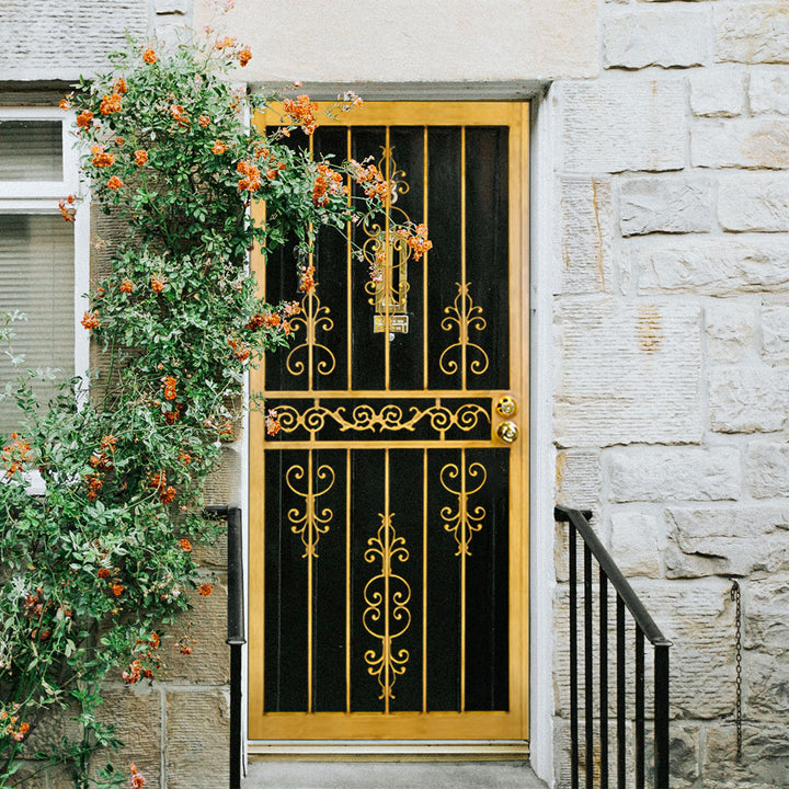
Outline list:
[[[525,762],[525,740],[252,740],[250,761]]]

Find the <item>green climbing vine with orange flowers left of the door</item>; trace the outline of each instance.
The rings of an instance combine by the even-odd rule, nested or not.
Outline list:
[[[227,37],[169,52],[133,42],[61,103],[93,202],[128,235],[95,240],[112,243],[82,318],[98,371],[48,403],[36,401],[33,371],[14,385],[19,428],[0,455],[0,787],[53,765],[80,788],[145,786],[134,765],[90,766],[117,745],[99,720],[101,683],[153,679],[168,650],[194,648],[179,628],[213,590],[194,559],[218,534],[203,515],[205,482],[236,437],[244,374],[288,343],[299,311],[260,296],[248,253],[295,244],[308,290],[316,235],[389,198],[368,162],[315,161],[288,145],[318,124],[308,96],[231,88],[229,70],[250,58]],[[361,103],[347,93],[335,111]],[[253,106],[274,107],[282,124],[250,128]],[[255,199],[264,224],[250,218]],[[66,221],[87,209],[60,202]],[[430,244],[421,227],[392,232],[416,254]],[[9,318],[0,333],[11,346],[12,330]],[[36,495],[31,474],[44,482]],[[69,716],[76,729],[44,735],[48,717]]]

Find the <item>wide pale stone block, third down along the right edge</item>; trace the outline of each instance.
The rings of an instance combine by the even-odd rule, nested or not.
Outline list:
[[[690,130],[690,161],[707,168],[789,168],[789,124],[770,118],[702,118]]]

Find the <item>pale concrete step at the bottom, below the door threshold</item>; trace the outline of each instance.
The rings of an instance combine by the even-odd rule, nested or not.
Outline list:
[[[252,762],[243,789],[546,789],[528,762]]]

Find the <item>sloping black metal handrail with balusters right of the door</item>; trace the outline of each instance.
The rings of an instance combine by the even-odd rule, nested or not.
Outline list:
[[[626,702],[626,627],[625,609],[632,616],[634,643],[634,787],[645,786],[645,709],[644,709],[644,639],[654,649],[654,784],[668,789],[668,641],[644,608],[632,586],[593,531],[587,511],[557,506],[553,516],[570,524],[570,758],[572,789],[579,788],[579,674],[578,674],[578,557],[576,535],[584,546],[584,723],[586,789],[594,787],[594,599],[593,558],[598,564],[598,682],[599,682],[599,787],[608,789],[608,583],[616,592],[616,739],[617,782],[627,786],[627,702]]]

